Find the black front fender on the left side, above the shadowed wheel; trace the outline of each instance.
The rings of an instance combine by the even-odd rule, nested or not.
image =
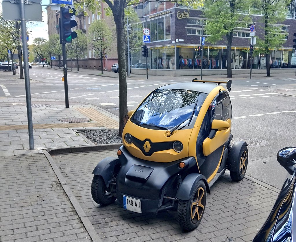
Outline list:
[[[96,176],[101,176],[105,182],[106,187],[109,187],[115,166],[117,164],[119,164],[117,158],[104,158],[102,161],[99,162],[99,164],[96,165],[96,168],[93,170],[92,174]]]

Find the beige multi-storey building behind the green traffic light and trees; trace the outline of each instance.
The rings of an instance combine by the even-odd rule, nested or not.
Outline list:
[[[108,17],[105,14],[104,9],[107,7],[106,3],[102,3],[100,12],[101,14],[94,14],[90,12],[88,9],[78,9],[75,13],[75,20],[77,22],[77,26],[72,29],[72,31],[75,31],[76,29],[81,30],[85,35],[88,35],[88,29],[89,26],[94,20],[104,19],[106,20],[108,26],[113,26],[114,20],[112,17]],[[47,24],[48,24],[48,33],[49,35],[57,33],[59,34],[59,10],[54,10],[55,7],[48,6],[46,7],[47,11]],[[87,12],[87,16],[84,15],[84,11]],[[108,53],[107,57],[103,59],[103,66],[104,70],[111,70],[111,66],[114,63],[118,63],[118,57],[117,57],[117,48],[116,43],[113,43],[114,47],[112,47],[112,50],[110,53]],[[56,57],[56,59],[58,59]],[[95,51],[88,45],[86,49],[86,53],[84,55],[84,58],[79,59],[78,61],[79,68],[85,68],[85,69],[98,69],[101,70],[101,60],[96,57]],[[56,60],[54,62],[54,65],[59,65],[58,61]],[[77,63],[75,60],[67,60],[67,65],[72,66],[73,68],[77,68]]]

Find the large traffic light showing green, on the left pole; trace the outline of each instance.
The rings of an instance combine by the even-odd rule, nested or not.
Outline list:
[[[60,43],[72,43],[72,39],[77,38],[77,33],[71,31],[71,28],[77,26],[75,20],[71,20],[71,16],[75,15],[75,8],[60,8]]]

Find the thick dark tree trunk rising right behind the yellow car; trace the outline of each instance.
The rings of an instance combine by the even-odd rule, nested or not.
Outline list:
[[[127,93],[126,93],[126,48],[124,43],[124,8],[120,6],[121,1],[114,1],[113,12],[116,26],[117,54],[118,54],[118,76],[119,76],[119,130],[118,136],[122,136],[123,128],[128,121]]]

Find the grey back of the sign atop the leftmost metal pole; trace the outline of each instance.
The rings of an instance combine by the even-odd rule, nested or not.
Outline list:
[[[40,3],[25,4],[26,20],[42,21],[42,8]],[[9,1],[2,1],[2,17],[4,20],[19,20],[20,5]]]

